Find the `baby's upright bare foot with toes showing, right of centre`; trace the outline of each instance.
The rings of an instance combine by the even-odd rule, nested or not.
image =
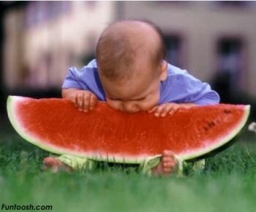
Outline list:
[[[164,152],[162,152],[161,161],[156,167],[151,168],[151,171],[154,176],[167,176],[175,170],[177,165],[178,162],[173,152],[164,150]]]

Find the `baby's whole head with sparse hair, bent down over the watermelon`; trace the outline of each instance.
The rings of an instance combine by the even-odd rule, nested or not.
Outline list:
[[[166,79],[165,46],[152,23],[122,20],[102,32],[97,43],[99,78],[107,103],[121,111],[157,106],[160,81]]]

